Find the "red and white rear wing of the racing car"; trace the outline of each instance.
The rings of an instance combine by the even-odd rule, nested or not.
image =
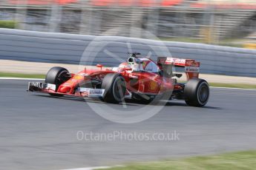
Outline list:
[[[193,59],[159,57],[157,58],[157,65],[160,66],[160,69],[163,68],[163,65],[184,67],[188,80],[199,78],[200,62]]]

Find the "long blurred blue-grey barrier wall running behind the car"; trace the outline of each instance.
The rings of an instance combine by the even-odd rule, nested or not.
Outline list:
[[[166,55],[165,47],[173,57],[200,61],[200,72],[203,73],[256,77],[256,50],[117,36],[0,29],[0,59],[16,61],[104,64],[111,67],[120,63],[119,58],[125,61],[129,50],[150,54],[156,60],[157,55]],[[108,52],[119,58],[108,55]],[[80,63],[82,55],[86,61]]]

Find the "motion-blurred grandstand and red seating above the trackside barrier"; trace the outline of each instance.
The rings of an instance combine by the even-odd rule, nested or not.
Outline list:
[[[256,1],[0,0],[0,27],[256,49]]]

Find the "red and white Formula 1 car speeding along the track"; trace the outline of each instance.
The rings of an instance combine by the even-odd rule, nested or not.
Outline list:
[[[128,61],[119,67],[85,69],[77,74],[62,67],[51,68],[45,82],[30,82],[28,91],[46,92],[54,96],[100,98],[120,103],[130,98],[140,103],[160,100],[184,100],[189,106],[204,106],[209,99],[209,84],[198,78],[200,63],[191,59],[157,58],[157,63],[129,53]],[[185,68],[187,82],[177,83],[182,74],[174,67]]]

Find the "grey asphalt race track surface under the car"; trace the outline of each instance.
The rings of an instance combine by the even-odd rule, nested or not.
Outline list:
[[[256,149],[256,90],[211,89],[206,107],[173,101],[148,120],[123,124],[93,112],[88,106],[93,101],[53,98],[26,92],[26,88],[27,81],[0,80],[0,169],[109,166]],[[128,106],[142,107],[138,103]],[[78,131],[176,131],[180,140],[86,141],[77,139]]]

